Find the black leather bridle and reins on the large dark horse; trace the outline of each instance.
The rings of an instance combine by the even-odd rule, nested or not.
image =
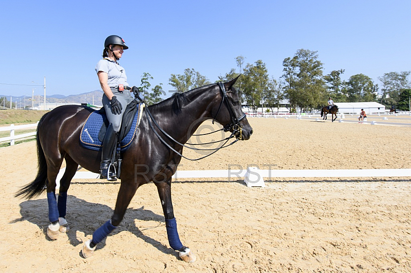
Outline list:
[[[221,99],[220,106],[218,107],[217,113],[216,113],[216,115],[215,115],[214,118],[213,118],[213,123],[214,123],[214,121],[215,121],[216,118],[217,118],[217,115],[218,115],[218,113],[219,113],[219,111],[220,111],[220,109],[221,109],[222,103],[223,103],[224,101],[226,101],[226,105],[227,105],[228,111],[229,111],[229,113],[230,113],[231,124],[228,124],[228,125],[224,126],[222,129],[223,129],[225,132],[228,132],[228,131],[232,130],[231,135],[230,135],[228,138],[226,138],[226,139],[223,139],[223,140],[220,140],[220,141],[216,141],[216,142],[201,143],[201,144],[190,144],[190,143],[188,143],[189,145],[206,145],[206,144],[211,144],[211,143],[217,143],[217,142],[223,142],[223,141],[225,141],[225,142],[224,142],[220,147],[218,147],[218,148],[199,149],[199,148],[190,147],[190,146],[187,146],[187,145],[184,145],[184,144],[178,142],[178,141],[175,140],[170,134],[168,134],[167,132],[165,132],[165,131],[158,125],[158,123],[155,121],[155,119],[154,119],[152,113],[150,112],[150,110],[148,110],[147,107],[144,107],[144,111],[145,111],[145,115],[146,115],[146,117],[147,117],[148,124],[150,125],[151,129],[153,130],[153,132],[157,135],[157,137],[159,138],[159,140],[160,140],[165,146],[167,146],[169,149],[171,149],[172,151],[174,151],[175,153],[177,153],[180,157],[185,158],[185,159],[187,159],[187,160],[191,160],[191,161],[197,161],[197,160],[200,160],[200,159],[203,159],[203,158],[207,158],[207,157],[209,157],[210,155],[212,155],[213,153],[217,152],[219,149],[221,149],[221,148],[226,148],[226,147],[228,147],[228,146],[231,146],[231,145],[233,145],[234,143],[236,143],[237,141],[239,141],[239,140],[242,139],[242,126],[239,124],[239,122],[240,122],[241,120],[243,120],[244,118],[246,118],[246,114],[245,114],[245,113],[242,113],[242,115],[237,119],[236,116],[235,116],[234,110],[233,110],[233,108],[231,107],[231,105],[230,105],[230,103],[229,103],[228,96],[227,96],[227,93],[228,93],[228,92],[226,91],[226,87],[225,87],[224,84],[221,83],[221,82],[218,83],[218,86],[219,86],[220,91],[221,91],[222,99]],[[137,99],[139,99],[141,102],[143,102],[143,101],[141,100],[140,96],[139,96],[137,93],[135,93],[135,96],[136,96]],[[154,125],[155,125],[164,135],[166,135],[167,138],[169,138],[172,142],[174,142],[174,143],[176,143],[176,144],[178,144],[178,145],[180,145],[180,146],[186,147],[186,148],[188,148],[188,149],[192,149],[192,150],[198,150],[198,151],[213,151],[213,152],[211,152],[210,154],[204,155],[204,157],[201,157],[201,158],[198,158],[198,159],[189,159],[189,158],[184,157],[184,155],[182,155],[182,154],[181,154],[180,152],[178,152],[176,149],[174,149],[173,147],[171,147],[165,140],[163,140],[163,138],[161,138],[161,135],[160,135],[160,134],[157,132],[157,130],[154,128],[152,121],[153,121]],[[214,131],[214,132],[218,132],[218,131],[221,131],[221,130],[217,130],[217,131]],[[211,132],[211,133],[214,133],[214,132]],[[209,134],[209,133],[208,133],[208,134]],[[201,134],[200,134],[200,135],[201,135]],[[227,144],[227,142],[228,142],[230,139],[234,138],[234,137],[236,138],[236,140],[233,141],[233,142],[230,143],[230,144]],[[227,144],[227,145],[226,145],[226,144]]]

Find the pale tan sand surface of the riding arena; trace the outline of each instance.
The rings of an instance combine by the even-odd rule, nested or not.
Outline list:
[[[249,141],[198,162],[183,160],[179,169],[411,168],[410,127],[249,121]],[[35,177],[35,149],[35,142],[0,149],[1,272],[411,271],[409,177],[273,178],[266,188],[248,188],[240,179],[178,180],[172,187],[175,216],[181,241],[197,256],[193,264],[169,247],[156,187],[143,185],[120,226],[94,256],[82,259],[84,241],[111,217],[120,184],[73,180],[71,229],[49,241],[45,193],[32,200],[14,197]]]

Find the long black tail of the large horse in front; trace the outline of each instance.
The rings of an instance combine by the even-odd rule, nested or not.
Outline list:
[[[47,180],[47,162],[46,157],[44,155],[44,151],[42,148],[42,144],[40,143],[39,138],[39,128],[40,125],[43,123],[46,115],[44,114],[37,125],[37,133],[36,133],[36,141],[37,141],[37,157],[39,160],[39,171],[37,173],[36,178],[30,183],[24,186],[22,189],[16,192],[15,197],[23,196],[27,199],[31,199],[35,196],[38,196],[44,190],[44,186],[46,185]]]

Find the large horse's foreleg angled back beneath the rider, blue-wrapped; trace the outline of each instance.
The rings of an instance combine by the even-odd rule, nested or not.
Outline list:
[[[136,193],[139,183],[132,181],[121,181],[120,190],[117,196],[116,208],[110,220],[105,222],[93,233],[93,238],[88,240],[82,249],[84,258],[91,257],[96,249],[96,245],[100,243],[107,235],[117,228],[121,220],[123,220],[128,204]]]

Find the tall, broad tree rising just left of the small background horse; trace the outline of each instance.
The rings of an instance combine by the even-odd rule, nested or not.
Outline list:
[[[318,108],[325,100],[326,87],[323,80],[323,63],[318,59],[317,51],[297,50],[294,57],[283,61],[284,77],[288,83],[286,96],[292,108]]]

